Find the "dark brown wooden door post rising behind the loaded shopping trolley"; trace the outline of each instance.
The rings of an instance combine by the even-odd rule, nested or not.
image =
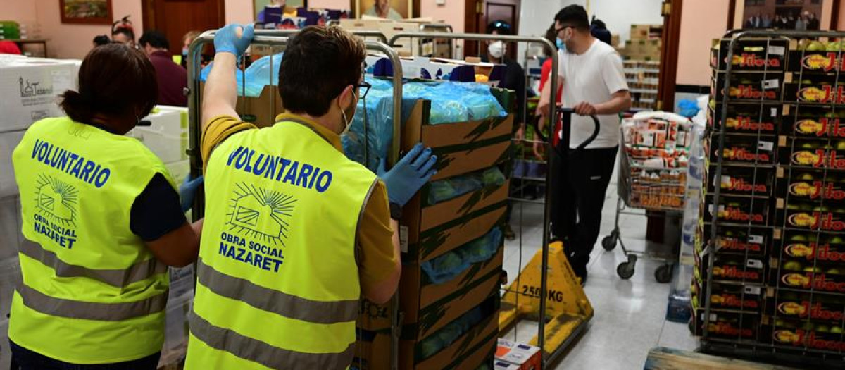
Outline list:
[[[663,16],[660,52],[660,73],[657,77],[657,109],[673,112],[675,109],[675,82],[678,79],[678,48],[681,34],[681,7],[683,0],[664,0],[669,14]]]

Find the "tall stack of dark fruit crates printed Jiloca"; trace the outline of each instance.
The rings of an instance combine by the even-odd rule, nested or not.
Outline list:
[[[729,42],[711,51],[692,324],[712,348],[841,366],[845,52],[838,42],[739,39],[728,79]]]

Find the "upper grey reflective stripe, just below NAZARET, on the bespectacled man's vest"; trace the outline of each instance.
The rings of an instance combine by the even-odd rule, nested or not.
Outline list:
[[[208,287],[215,294],[280,314],[286,318],[319,324],[335,324],[354,321],[358,315],[360,302],[357,299],[334,302],[312,301],[223,274],[208,264],[204,264],[202,258],[199,258],[197,266],[199,284]]]

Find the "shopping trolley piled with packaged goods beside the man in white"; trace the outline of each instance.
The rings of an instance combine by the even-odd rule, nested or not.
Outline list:
[[[622,150],[619,150],[619,184],[613,231],[602,239],[607,251],[617,242],[628,258],[616,267],[616,274],[627,280],[634,275],[638,258],[662,260],[655,269],[658,282],[672,280],[678,246],[672,253],[630,250],[619,231],[620,215],[651,215],[663,212],[680,215],[684,210],[687,162],[690,149],[690,120],[667,112],[641,112],[626,119],[619,127]],[[645,214],[628,209],[644,209]]]

